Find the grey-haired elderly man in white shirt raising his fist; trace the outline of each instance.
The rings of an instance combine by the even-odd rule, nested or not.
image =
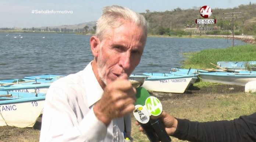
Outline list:
[[[146,39],[141,14],[117,5],[104,7],[90,38],[94,60],[47,91],[40,141],[129,138],[136,90],[128,76],[141,60]]]

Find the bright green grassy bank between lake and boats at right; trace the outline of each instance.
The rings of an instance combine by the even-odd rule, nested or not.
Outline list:
[[[217,61],[256,61],[256,45],[246,44],[223,49],[204,49],[199,52],[183,53],[184,68],[213,68]]]

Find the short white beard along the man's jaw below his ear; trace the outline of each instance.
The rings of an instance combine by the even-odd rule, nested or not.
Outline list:
[[[100,56],[97,61],[97,70],[98,74],[100,76],[100,79],[107,85],[107,80],[104,78],[106,76],[106,63],[103,63],[102,61],[102,52],[100,51]]]

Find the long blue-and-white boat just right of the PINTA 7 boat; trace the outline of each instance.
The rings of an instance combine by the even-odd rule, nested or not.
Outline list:
[[[239,73],[231,72],[207,72],[199,73],[202,81],[223,83],[229,85],[245,86],[249,81],[256,81],[256,73],[249,71],[240,71]]]

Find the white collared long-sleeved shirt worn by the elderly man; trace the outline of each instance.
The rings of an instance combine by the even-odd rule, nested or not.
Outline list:
[[[91,62],[83,71],[53,82],[46,94],[40,142],[124,141],[124,119],[131,134],[130,115],[114,119],[106,127],[93,112],[93,104],[102,94]]]

